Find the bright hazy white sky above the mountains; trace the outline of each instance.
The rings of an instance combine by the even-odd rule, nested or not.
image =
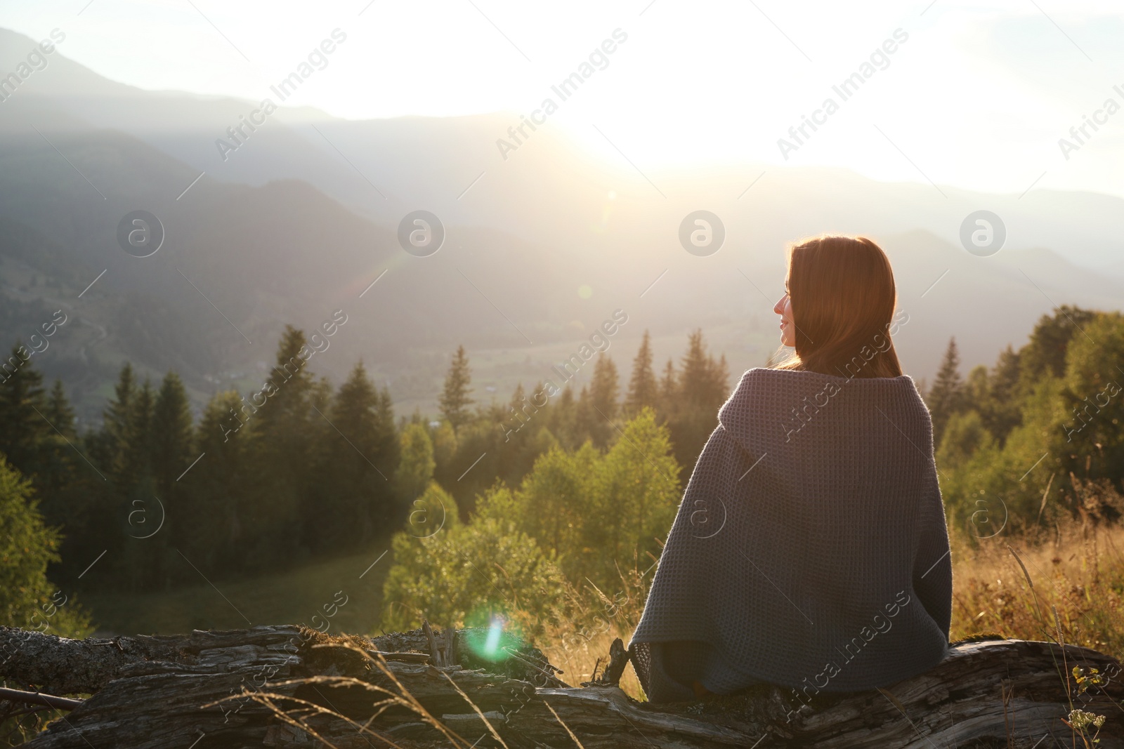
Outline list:
[[[502,110],[516,122],[551,98],[547,127],[649,168],[827,164],[1124,195],[1124,111],[1105,109],[1124,108],[1120,2],[48,0],[0,4],[0,26],[36,38],[58,27],[65,56],[117,81],[252,100],[277,100],[270,85],[338,28],[346,40],[287,103],[346,118]],[[615,29],[627,39],[595,55],[562,101],[551,86]],[[879,53],[895,33],[892,54]],[[846,100],[833,90],[864,72]],[[821,125],[797,143],[788,130],[805,116]],[[1070,128],[1085,116],[1102,124],[1078,143]],[[787,159],[782,137],[799,146]],[[1068,159],[1063,137],[1079,146]]]

